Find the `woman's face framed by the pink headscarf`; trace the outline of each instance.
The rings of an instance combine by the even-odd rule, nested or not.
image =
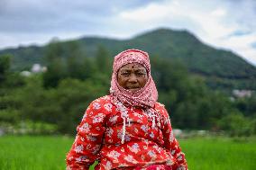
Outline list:
[[[118,84],[132,92],[140,90],[144,85],[146,85],[147,81],[147,70],[138,63],[124,65],[117,73]]]

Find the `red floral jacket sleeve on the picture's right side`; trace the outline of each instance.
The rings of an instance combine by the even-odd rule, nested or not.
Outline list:
[[[167,148],[170,154],[176,158],[176,162],[173,168],[177,170],[187,170],[187,161],[185,158],[185,154],[181,151],[181,148],[178,145],[178,140],[173,134],[171,123],[169,120],[169,114],[165,109],[163,109],[163,111],[165,112],[165,121],[163,128],[164,147]]]

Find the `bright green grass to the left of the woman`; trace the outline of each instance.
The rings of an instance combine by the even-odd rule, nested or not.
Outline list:
[[[0,169],[65,169],[71,144],[64,137],[0,137]]]

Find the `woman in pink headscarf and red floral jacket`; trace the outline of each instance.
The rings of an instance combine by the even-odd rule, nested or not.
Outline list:
[[[169,114],[157,102],[149,55],[114,57],[110,94],[90,103],[67,155],[67,169],[187,169]]]

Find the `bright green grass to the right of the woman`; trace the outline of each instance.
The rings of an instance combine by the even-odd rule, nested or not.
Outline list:
[[[180,139],[189,170],[256,169],[256,139]]]

